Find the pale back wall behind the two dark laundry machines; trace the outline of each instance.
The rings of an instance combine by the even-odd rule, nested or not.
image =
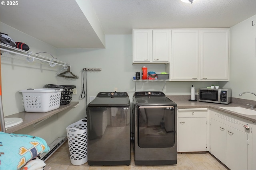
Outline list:
[[[148,71],[164,72],[164,64],[132,64],[132,35],[106,35],[106,49],[57,49],[57,55],[71,64],[71,71],[80,76],[79,79],[68,81],[58,78],[58,84],[77,86],[74,101],[79,101],[78,114],[86,116],[85,99],[81,99],[83,68],[102,68],[101,72],[87,72],[87,104],[90,96],[98,92],[128,92],[130,100],[135,92],[132,77],[140,72],[142,66]],[[185,69],[185,68],[184,68]],[[84,72],[85,74],[85,72]],[[84,80],[85,82],[85,80]],[[212,82],[166,82],[163,92],[166,95],[190,95],[190,87],[210,86]],[[162,91],[164,82],[137,82],[136,91]],[[77,113],[76,113],[77,114]],[[72,115],[70,115],[72,118]]]

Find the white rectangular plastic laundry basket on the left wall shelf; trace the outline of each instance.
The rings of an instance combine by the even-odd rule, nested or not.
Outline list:
[[[26,89],[22,92],[24,109],[27,112],[45,113],[60,107],[61,91],[63,89]]]

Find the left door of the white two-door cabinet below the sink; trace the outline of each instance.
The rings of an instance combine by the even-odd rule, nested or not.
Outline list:
[[[226,164],[226,125],[211,119],[210,152],[222,163]]]

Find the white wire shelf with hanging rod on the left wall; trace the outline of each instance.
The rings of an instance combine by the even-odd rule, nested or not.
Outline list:
[[[19,51],[19,52],[22,52],[22,53],[19,53],[19,52],[16,52],[16,51],[11,51],[11,50],[8,50],[8,49],[4,49],[4,48],[1,48],[1,51],[6,51],[6,52],[9,52],[9,53],[14,53],[14,54],[17,54],[17,55],[22,55],[22,56],[25,56],[27,58],[32,58],[32,59],[37,59],[37,60],[40,60],[40,61],[45,61],[45,62],[48,62],[50,64],[50,66],[55,66],[55,64],[58,64],[58,65],[61,65],[61,66],[64,66],[64,67],[68,67],[70,66],[69,63],[66,63],[66,62],[62,62],[62,61],[58,61],[56,59],[51,59],[51,58],[48,58],[48,57],[44,57],[42,55],[38,55],[38,54],[34,54],[32,52],[28,52],[28,51],[24,51],[22,49],[17,49],[15,47],[12,47],[12,46],[9,46],[9,45],[6,45],[6,44],[3,44],[3,43],[0,43],[1,46],[4,46],[4,47],[8,47],[10,49],[14,49],[16,51]],[[26,53],[26,54],[23,54],[23,53]],[[33,55],[33,56],[31,56]],[[39,58],[40,57],[40,58]],[[28,62],[31,62],[31,61],[28,61]],[[57,62],[57,63],[56,63]]]

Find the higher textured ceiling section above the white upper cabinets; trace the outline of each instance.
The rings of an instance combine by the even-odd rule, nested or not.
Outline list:
[[[106,34],[132,28],[232,27],[256,14],[256,0],[91,0]]]

